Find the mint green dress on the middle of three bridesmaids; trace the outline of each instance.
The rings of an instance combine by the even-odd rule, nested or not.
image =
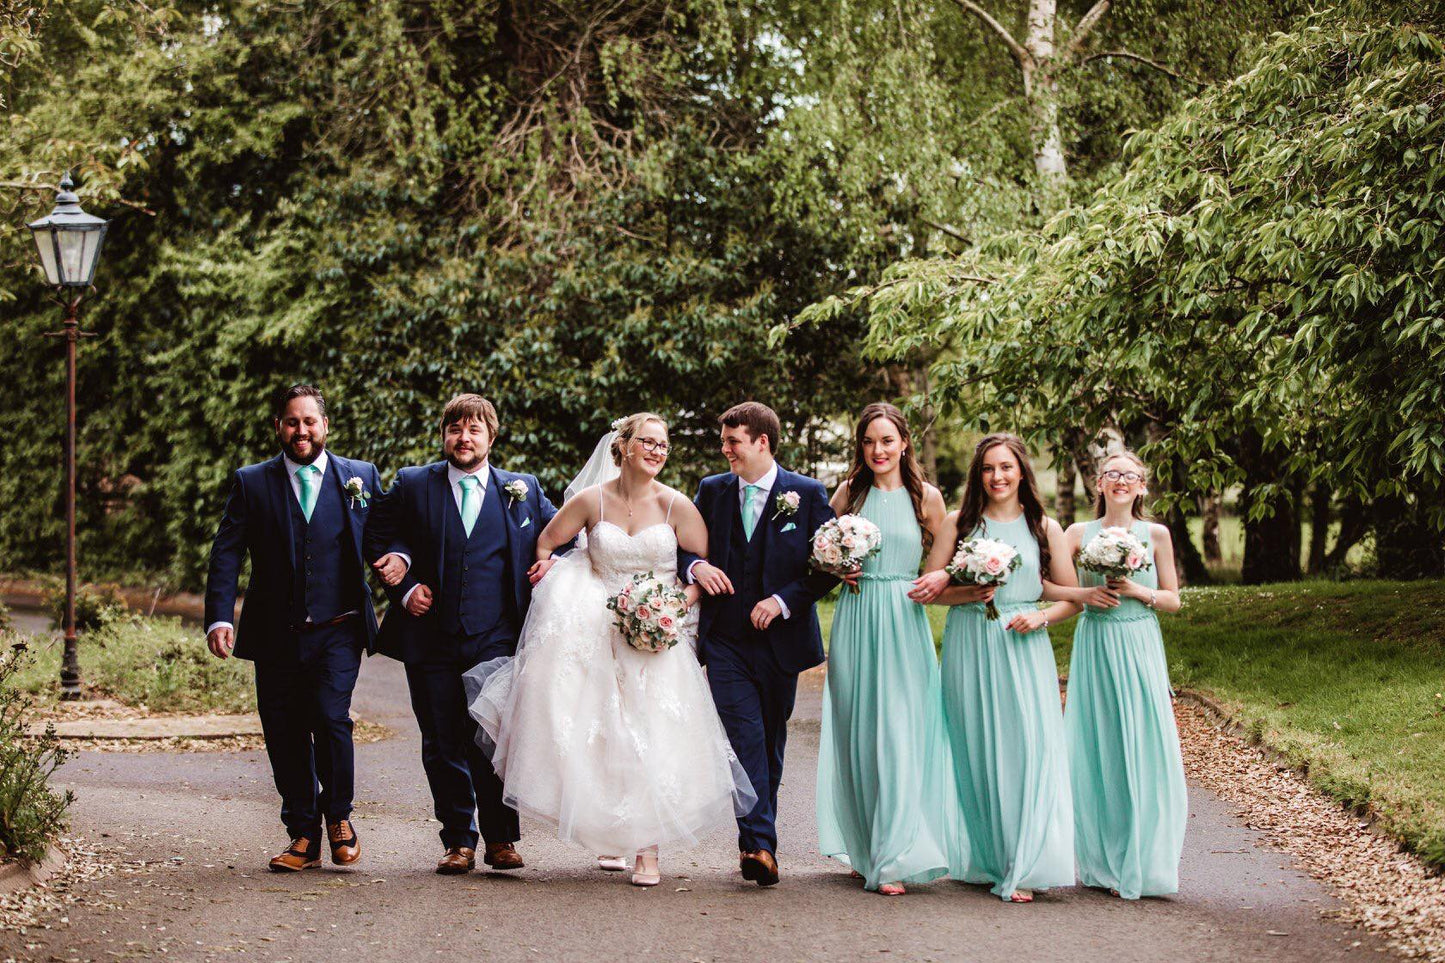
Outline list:
[[[981,603],[954,606],[944,628],[944,720],[968,846],[949,855],[955,879],[1017,889],[1074,885],[1074,811],[1053,646],[1043,629],[1004,629],[1043,596],[1039,545],[1026,518],[984,519],[971,536],[1019,549],[1023,564]]]

